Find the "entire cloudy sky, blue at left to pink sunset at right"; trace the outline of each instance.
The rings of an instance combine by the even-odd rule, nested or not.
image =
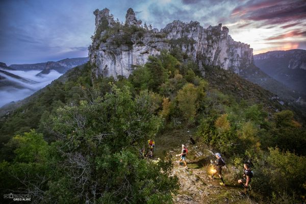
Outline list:
[[[0,62],[7,65],[87,57],[95,9],[108,8],[125,21],[126,10],[153,28],[173,20],[199,21],[202,27],[222,25],[253,48],[306,49],[305,0],[1,0]]]

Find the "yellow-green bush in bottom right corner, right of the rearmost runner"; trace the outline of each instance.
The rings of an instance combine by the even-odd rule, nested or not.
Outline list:
[[[269,148],[269,155],[263,156],[253,169],[252,187],[274,200],[285,203],[287,198],[301,199],[295,195],[306,192],[306,158],[290,151]],[[281,202],[282,201],[282,202]]]

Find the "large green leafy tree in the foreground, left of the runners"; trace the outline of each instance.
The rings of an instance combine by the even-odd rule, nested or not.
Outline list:
[[[128,87],[113,85],[93,103],[60,108],[53,127],[61,138],[55,143],[60,155],[49,196],[58,202],[66,194],[100,203],[140,203],[156,196],[171,201],[177,180],[169,176],[170,163],[154,166],[137,158],[138,149],[159,130],[161,119],[155,114],[160,104],[157,94],[141,91],[133,98]]]

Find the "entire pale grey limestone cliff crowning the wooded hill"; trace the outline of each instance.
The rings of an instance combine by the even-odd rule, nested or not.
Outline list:
[[[177,20],[158,31],[142,27],[132,9],[127,10],[125,25],[116,22],[108,9],[96,10],[94,15],[96,31],[89,57],[95,78],[129,77],[134,66],[145,64],[148,56],[175,47],[192,56],[200,68],[202,64],[217,65],[239,73],[241,67],[252,64],[252,48],[234,41],[221,24],[204,29],[199,22]]]

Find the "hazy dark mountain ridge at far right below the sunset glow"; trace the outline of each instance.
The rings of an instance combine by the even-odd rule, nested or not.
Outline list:
[[[306,50],[291,49],[254,55],[254,64],[276,81],[306,95]]]

